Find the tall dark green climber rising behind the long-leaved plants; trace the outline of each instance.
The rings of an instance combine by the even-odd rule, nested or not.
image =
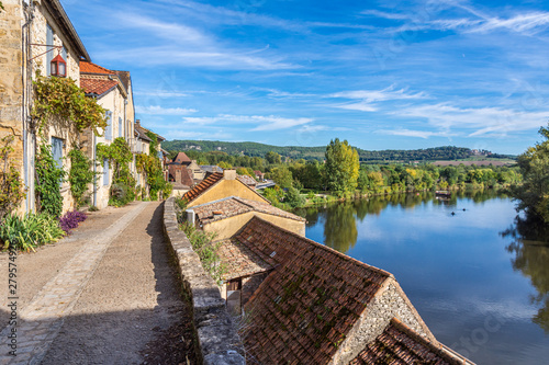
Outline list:
[[[49,145],[42,144],[40,146],[36,159],[36,178],[38,210],[59,217],[63,212],[63,196],[59,187],[64,181],[65,171],[57,167]]]

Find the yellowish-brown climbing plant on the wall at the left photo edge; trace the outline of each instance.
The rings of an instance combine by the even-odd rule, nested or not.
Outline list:
[[[13,139],[13,136],[5,136],[0,139],[0,221],[25,196],[20,173],[10,164],[10,153],[13,152],[13,147],[11,147]]]

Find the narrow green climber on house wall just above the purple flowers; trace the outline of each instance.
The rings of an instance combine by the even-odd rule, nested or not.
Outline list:
[[[72,147],[68,157],[70,158],[68,174],[70,193],[77,206],[81,206],[83,204],[83,195],[88,191],[88,185],[93,182],[96,173],[92,171],[91,160],[77,146]]]

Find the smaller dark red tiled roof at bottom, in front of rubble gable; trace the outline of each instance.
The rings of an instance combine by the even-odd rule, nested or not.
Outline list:
[[[463,364],[441,350],[440,345],[427,341],[406,324],[393,318],[374,341],[358,354],[350,365],[362,364]]]

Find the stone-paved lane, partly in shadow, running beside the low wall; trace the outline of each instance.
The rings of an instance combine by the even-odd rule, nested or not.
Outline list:
[[[81,232],[18,260],[26,275],[40,277],[29,267],[48,249],[72,254],[59,260],[63,265],[52,261],[57,272],[20,309],[16,357],[7,355],[9,328],[2,331],[0,364],[146,363],[145,349],[184,318],[163,236],[161,205],[133,203],[105,213],[92,214],[92,227],[86,221]]]

